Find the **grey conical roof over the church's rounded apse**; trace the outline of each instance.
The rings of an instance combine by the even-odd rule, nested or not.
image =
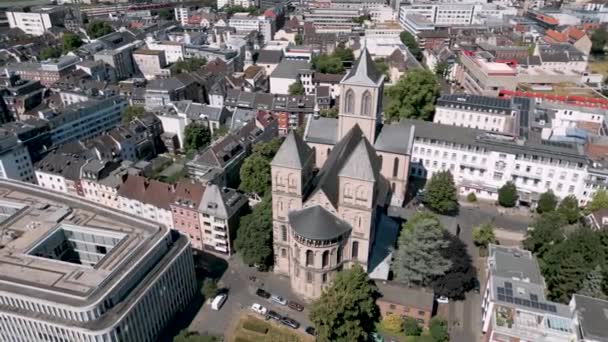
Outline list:
[[[295,232],[312,240],[331,240],[350,231],[350,225],[321,206],[313,206],[288,214]]]

